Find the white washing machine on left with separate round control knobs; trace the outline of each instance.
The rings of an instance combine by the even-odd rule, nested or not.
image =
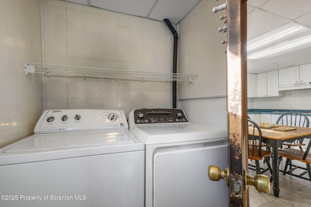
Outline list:
[[[144,143],[120,110],[48,110],[0,149],[1,207],[144,207]]]

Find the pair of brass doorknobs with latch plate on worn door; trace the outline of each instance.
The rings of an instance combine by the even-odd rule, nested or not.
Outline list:
[[[229,179],[230,179],[229,166],[227,166],[225,170],[220,170],[220,168],[215,165],[209,165],[207,174],[210,180],[218,181],[220,179],[224,179],[226,181],[227,186],[229,186]],[[235,179],[236,179],[236,176],[235,176]],[[251,186],[254,186],[257,191],[260,191],[263,193],[270,192],[270,180],[269,180],[269,177],[266,175],[258,174],[252,177],[248,175],[247,171],[244,169],[243,179],[244,179],[245,191],[247,190],[248,186],[251,185]],[[242,177],[240,177],[239,180],[241,180],[241,183],[242,183]],[[236,184],[237,183],[232,185],[232,191],[237,191]],[[240,189],[242,189],[242,186]]]

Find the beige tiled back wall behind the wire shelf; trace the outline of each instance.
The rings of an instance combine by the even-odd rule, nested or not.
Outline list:
[[[164,22],[59,0],[44,2],[45,62],[172,72],[173,34]],[[171,108],[172,83],[45,78],[47,109]]]

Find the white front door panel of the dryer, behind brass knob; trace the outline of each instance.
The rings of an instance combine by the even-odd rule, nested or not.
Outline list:
[[[225,207],[229,193],[225,183],[220,185],[207,178],[208,165],[228,163],[227,142],[214,142],[209,146],[176,149],[167,148],[154,155],[153,207]]]

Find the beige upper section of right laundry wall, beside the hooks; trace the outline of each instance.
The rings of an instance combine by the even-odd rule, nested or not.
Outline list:
[[[223,1],[225,2],[225,1]],[[222,2],[203,0],[179,26],[179,72],[199,74],[194,84],[180,84],[180,98],[226,94],[226,33],[218,32],[225,10],[211,9]]]

